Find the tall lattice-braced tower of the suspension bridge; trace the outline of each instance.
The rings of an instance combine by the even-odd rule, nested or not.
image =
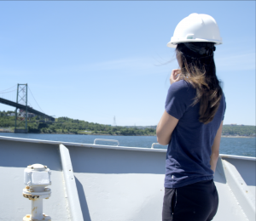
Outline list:
[[[27,83],[18,83],[16,102],[26,105],[26,110],[15,110],[15,133],[27,133]]]

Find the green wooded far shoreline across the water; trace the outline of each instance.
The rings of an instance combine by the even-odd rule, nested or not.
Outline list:
[[[0,127],[15,127],[14,111],[0,111]],[[113,127],[94,122],[85,122],[67,116],[55,118],[55,122],[44,122],[42,116],[28,118],[29,133],[75,133],[75,134],[106,134],[106,135],[155,135],[154,128]],[[224,125],[223,135],[255,136],[256,127],[247,125]]]

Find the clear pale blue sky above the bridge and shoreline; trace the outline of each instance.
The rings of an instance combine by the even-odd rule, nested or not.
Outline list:
[[[177,68],[166,43],[191,13],[210,14],[224,40],[224,124],[255,125],[255,1],[0,2],[0,91],[28,83],[51,116],[156,125]]]

